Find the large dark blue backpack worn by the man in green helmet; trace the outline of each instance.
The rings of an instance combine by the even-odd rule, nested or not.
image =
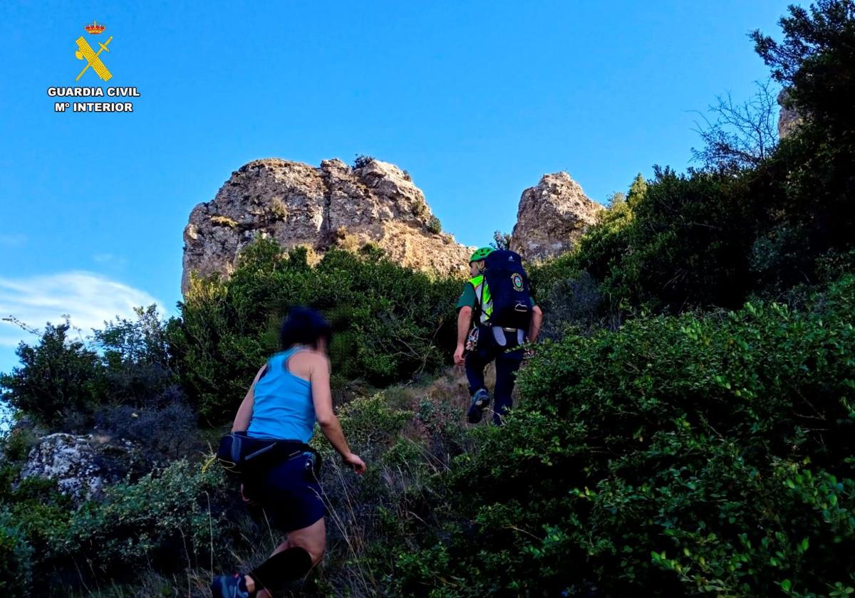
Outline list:
[[[513,251],[499,249],[487,255],[484,264],[484,278],[492,301],[492,313],[486,323],[528,330],[532,295],[522,258]]]

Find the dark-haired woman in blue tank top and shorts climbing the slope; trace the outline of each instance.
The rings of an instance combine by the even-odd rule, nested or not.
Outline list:
[[[245,432],[250,439],[308,443],[317,421],[345,463],[362,474],[365,463],[351,453],[333,413],[327,357],[331,337],[331,327],[321,314],[309,308],[292,309],[280,330],[283,351],[257,373],[232,431]],[[321,560],[326,509],[314,465],[312,454],[297,451],[277,455],[271,463],[244,474],[244,501],[262,507],[287,540],[251,572],[215,577],[211,583],[215,598],[268,598],[286,583],[304,577]]]

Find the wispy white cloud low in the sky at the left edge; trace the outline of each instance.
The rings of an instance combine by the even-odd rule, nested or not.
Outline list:
[[[37,329],[42,329],[48,321],[59,324],[63,314],[68,314],[71,324],[88,335],[92,328],[103,328],[105,320],[113,320],[116,316],[133,319],[133,308],[152,303],[157,303],[164,313],[163,304],[143,290],[95,273],[0,277],[0,318],[13,316]],[[0,321],[0,354],[11,355],[11,348],[22,340],[29,343],[36,337],[18,325]],[[7,361],[8,355],[0,355],[0,362]]]

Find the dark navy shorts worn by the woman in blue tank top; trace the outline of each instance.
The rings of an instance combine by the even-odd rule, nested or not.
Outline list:
[[[245,475],[244,493],[261,503],[262,521],[266,517],[280,531],[302,530],[327,514],[310,454]]]

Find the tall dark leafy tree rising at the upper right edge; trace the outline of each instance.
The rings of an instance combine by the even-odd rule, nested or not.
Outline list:
[[[785,249],[799,258],[790,260],[798,263],[788,270],[796,270],[804,282],[814,277],[818,256],[852,248],[855,2],[819,0],[809,9],[791,6],[779,23],[782,41],[759,31],[751,37],[805,123],[769,161],[770,185],[758,192],[777,187],[775,202],[768,202],[773,223],[768,241],[793,239]]]

